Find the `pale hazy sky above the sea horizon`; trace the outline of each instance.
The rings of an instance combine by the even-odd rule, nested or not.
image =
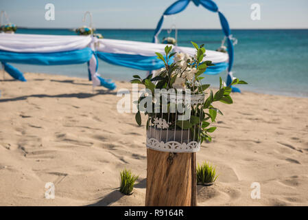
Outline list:
[[[308,28],[307,0],[214,0],[233,29]],[[164,10],[175,0],[1,0],[0,10],[20,27],[78,28],[87,10],[95,28],[154,29]],[[45,19],[45,5],[53,3],[55,20]],[[260,20],[252,20],[252,3],[260,5]],[[6,23],[6,22],[4,22]],[[217,13],[193,2],[179,14],[167,17],[163,28],[220,29]]]

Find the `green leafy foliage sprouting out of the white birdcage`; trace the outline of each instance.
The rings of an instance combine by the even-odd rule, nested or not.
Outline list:
[[[161,70],[161,72],[152,78],[152,75],[147,76],[147,78],[141,78],[138,75],[134,75],[133,79],[130,81],[131,83],[142,84],[145,88],[150,89],[152,91],[152,96],[154,98],[154,89],[171,89],[174,88],[174,85],[179,85],[176,82],[177,78],[185,78],[185,89],[190,89],[191,94],[198,95],[198,94],[208,94],[204,104],[198,104],[198,106],[192,107],[191,109],[191,118],[189,120],[176,120],[175,113],[163,113],[161,118],[164,118],[166,121],[171,122],[169,125],[170,129],[189,129],[191,131],[191,136],[196,141],[200,141],[201,143],[206,140],[211,142],[212,137],[209,133],[213,133],[216,130],[215,126],[210,126],[211,123],[216,121],[217,113],[223,115],[220,109],[217,109],[213,106],[214,102],[222,102],[224,104],[232,104],[233,100],[230,96],[232,88],[231,85],[237,84],[247,84],[243,80],[239,80],[235,78],[231,85],[228,87],[223,82],[222,78],[220,78],[220,88],[218,91],[213,94],[213,91],[209,89],[209,84],[202,85],[201,80],[204,78],[202,74],[206,71],[206,68],[209,66],[213,66],[212,61],[203,61],[204,54],[206,52],[204,45],[198,45],[194,42],[191,42],[193,47],[196,49],[195,56],[189,56],[188,58],[181,58],[181,56],[175,56],[176,53],[172,52],[172,46],[165,47],[165,55],[156,53],[157,58],[160,59],[165,63],[165,68]],[[181,54],[179,54],[181,55]],[[176,62],[170,64],[170,58],[175,56]],[[180,58],[179,58],[180,57]],[[187,57],[186,55],[184,57]],[[185,61],[186,60],[186,61]],[[184,61],[185,65],[182,65],[181,62]],[[188,72],[191,69],[193,71],[193,77],[188,78],[189,74],[184,74],[185,69]],[[145,98],[140,97],[136,104],[139,104],[140,101]],[[161,102],[160,102],[161,103]],[[170,103],[168,103],[170,104]],[[169,106],[169,105],[168,105]],[[160,107],[162,109],[162,105]],[[201,111],[200,111],[201,109]],[[160,111],[161,112],[161,111]],[[168,118],[168,115],[170,118]],[[152,115],[152,113],[145,112],[145,115]],[[141,113],[138,111],[135,115],[135,119],[139,126],[141,125]],[[170,120],[169,120],[170,119]],[[152,121],[153,122],[153,121]],[[150,124],[149,120],[147,120],[147,124]],[[197,132],[198,131],[198,132]]]

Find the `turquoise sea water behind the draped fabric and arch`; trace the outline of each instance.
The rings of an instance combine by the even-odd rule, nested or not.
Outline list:
[[[106,39],[151,42],[154,30],[97,30]],[[74,34],[71,30],[19,29],[23,34]],[[235,45],[233,75],[246,80],[249,85],[242,90],[266,94],[308,97],[308,30],[233,30],[239,43]],[[171,33],[173,36],[174,33]],[[169,36],[161,32],[160,39]],[[190,46],[190,41],[205,44],[206,49],[216,50],[220,46],[221,30],[178,30],[178,45]],[[44,72],[67,76],[87,77],[84,65],[34,66],[15,65],[23,72]],[[104,78],[129,80],[132,74],[146,72],[110,65],[99,61],[99,74]],[[214,86],[218,78],[226,73],[206,76]]]

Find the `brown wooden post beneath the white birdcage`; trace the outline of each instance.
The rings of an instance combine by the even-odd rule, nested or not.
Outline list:
[[[196,153],[147,148],[145,206],[196,206]]]

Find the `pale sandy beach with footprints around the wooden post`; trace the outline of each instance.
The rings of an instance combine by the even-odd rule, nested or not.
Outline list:
[[[93,93],[88,80],[67,76],[5,77],[0,206],[144,205],[145,124],[117,112],[117,90]],[[308,206],[308,98],[244,92],[233,101],[216,104],[224,116],[217,116],[213,142],[197,153],[197,162],[219,174],[213,186],[198,186],[198,206]],[[139,175],[130,196],[118,190],[123,168]],[[56,186],[55,199],[45,199],[47,182]],[[250,196],[253,182],[260,199]]]

